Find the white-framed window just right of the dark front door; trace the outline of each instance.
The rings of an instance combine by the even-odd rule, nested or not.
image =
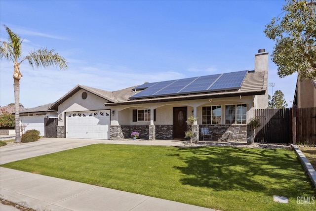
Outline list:
[[[220,125],[221,116],[221,106],[202,107],[202,124]]]

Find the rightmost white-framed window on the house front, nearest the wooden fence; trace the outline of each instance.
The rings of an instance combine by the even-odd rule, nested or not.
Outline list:
[[[247,105],[227,105],[225,108],[225,124],[247,124]]]

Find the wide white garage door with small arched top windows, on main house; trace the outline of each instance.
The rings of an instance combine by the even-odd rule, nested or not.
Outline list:
[[[109,139],[110,110],[66,113],[66,138]]]

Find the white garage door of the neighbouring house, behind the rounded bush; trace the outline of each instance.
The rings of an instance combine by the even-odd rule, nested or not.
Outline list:
[[[20,122],[22,125],[26,126],[25,131],[36,129],[40,131],[40,136],[44,136],[44,118],[45,115],[20,117]]]

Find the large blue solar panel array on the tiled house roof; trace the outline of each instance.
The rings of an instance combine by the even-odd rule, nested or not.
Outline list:
[[[185,93],[203,93],[218,90],[232,90],[240,88],[247,70],[179,79],[165,82],[147,83],[137,86],[136,90],[143,91],[131,98],[157,97],[163,95],[179,95]]]

